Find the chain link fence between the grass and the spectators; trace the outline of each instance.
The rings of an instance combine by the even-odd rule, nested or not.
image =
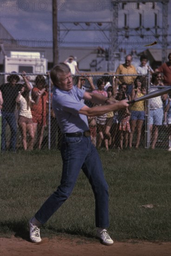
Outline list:
[[[88,79],[90,77],[91,82]],[[138,75],[139,80],[140,77],[142,75]],[[138,83],[135,88],[133,85],[134,96],[136,94],[139,97],[161,88],[151,86],[150,74],[143,78],[145,83],[140,89]],[[126,97],[131,99],[133,95],[127,94],[127,84],[116,86],[113,75],[77,75],[73,77],[75,86],[79,79],[79,86],[88,92],[93,90],[93,93],[99,92],[100,79],[105,81],[105,88],[115,81],[114,90],[107,86],[105,91],[105,95],[114,101]],[[4,101],[0,114],[1,151],[60,148],[62,134],[53,113],[53,85],[47,74],[0,73],[0,91]],[[99,149],[109,150],[150,147],[168,149],[171,147],[171,120],[167,117],[169,97],[169,94],[159,96],[134,103],[127,110],[88,118],[93,144]],[[89,101],[85,101],[85,104],[93,107]]]

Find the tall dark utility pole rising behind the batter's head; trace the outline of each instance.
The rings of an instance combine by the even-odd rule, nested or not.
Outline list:
[[[57,0],[53,2],[53,66],[58,64],[59,53],[58,53],[58,25],[57,25]]]

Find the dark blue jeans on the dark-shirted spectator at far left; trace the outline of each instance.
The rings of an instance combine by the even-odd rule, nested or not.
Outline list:
[[[2,111],[2,134],[1,134],[1,149],[7,150],[6,146],[6,125],[8,123],[11,130],[11,138],[9,149],[15,151],[17,142],[17,124],[15,114],[13,112]]]

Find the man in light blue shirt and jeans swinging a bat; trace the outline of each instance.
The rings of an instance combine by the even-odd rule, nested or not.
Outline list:
[[[73,86],[71,70],[65,63],[53,67],[50,76],[54,85],[52,106],[63,134],[62,178],[57,190],[29,221],[30,239],[34,243],[41,242],[41,225],[47,222],[72,194],[82,169],[92,186],[95,197],[96,236],[101,243],[112,245],[113,240],[107,232],[109,227],[108,184],[105,181],[98,151],[91,141],[87,116],[104,115],[110,111],[127,108],[129,104],[126,100],[113,103],[103,95],[88,93]],[[81,101],[82,99],[103,106],[89,108]]]

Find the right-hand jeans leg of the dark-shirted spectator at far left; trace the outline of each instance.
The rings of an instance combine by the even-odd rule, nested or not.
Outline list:
[[[17,123],[16,123],[16,118],[14,113],[9,113],[7,122],[11,130],[9,149],[15,151],[16,143],[17,143]]]

